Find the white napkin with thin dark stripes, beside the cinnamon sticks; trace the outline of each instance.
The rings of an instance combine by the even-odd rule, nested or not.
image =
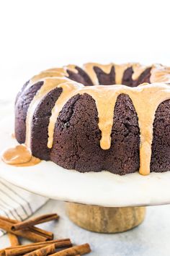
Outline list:
[[[0,179],[0,215],[18,221],[32,216],[48,198],[35,195]],[[6,232],[0,229],[0,236]]]

